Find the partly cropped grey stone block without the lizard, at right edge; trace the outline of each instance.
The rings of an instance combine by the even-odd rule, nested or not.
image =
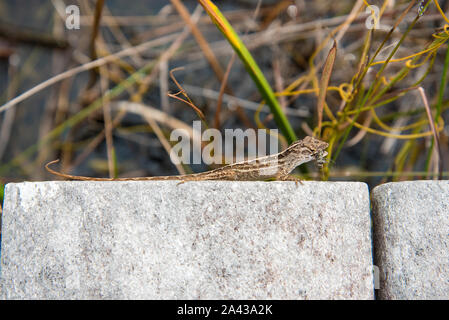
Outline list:
[[[449,299],[449,181],[372,192],[380,299]]]

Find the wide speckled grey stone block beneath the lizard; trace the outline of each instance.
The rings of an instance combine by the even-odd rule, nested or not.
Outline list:
[[[6,186],[7,299],[373,299],[358,182]]]

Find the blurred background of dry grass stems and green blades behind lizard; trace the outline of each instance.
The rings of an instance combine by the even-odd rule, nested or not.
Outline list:
[[[69,5],[79,29],[67,27]],[[203,129],[279,129],[281,146],[328,141],[324,171],[306,167],[303,179],[447,179],[447,9],[442,0],[0,0],[0,196],[8,182],[58,179],[44,169],[56,158],[86,176],[211,169],[168,155],[170,132],[192,132],[201,117]]]

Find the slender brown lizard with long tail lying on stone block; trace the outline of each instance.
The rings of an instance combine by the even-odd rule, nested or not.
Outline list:
[[[237,181],[255,181],[255,180],[292,180],[289,174],[297,166],[315,160],[318,166],[324,164],[327,152],[325,151],[329,144],[316,138],[307,136],[303,140],[292,143],[288,148],[280,153],[259,157],[252,160],[236,162],[223,166],[218,169],[174,176],[155,176],[155,177],[136,177],[136,178],[91,178],[84,176],[75,176],[57,172],[50,169],[50,165],[58,162],[54,160],[45,165],[45,168],[55,175],[71,180],[84,181],[142,181],[142,180],[181,180],[181,181],[200,181],[200,180],[237,180]],[[297,180],[297,179],[293,179]]]

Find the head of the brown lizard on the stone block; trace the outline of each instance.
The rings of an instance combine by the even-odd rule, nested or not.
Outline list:
[[[289,153],[295,153],[302,158],[303,162],[315,160],[317,165],[321,167],[325,162],[327,156],[327,142],[318,140],[317,138],[307,136],[302,140],[293,142],[287,150]]]

